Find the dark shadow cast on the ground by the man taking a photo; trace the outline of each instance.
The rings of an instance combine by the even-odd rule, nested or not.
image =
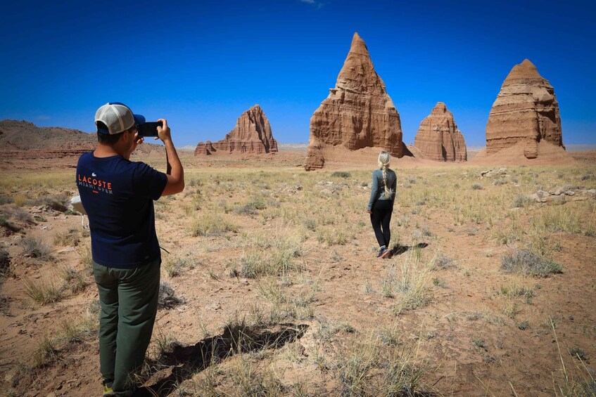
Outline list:
[[[264,349],[280,349],[287,342],[300,339],[308,325],[280,324],[274,330],[260,330],[240,323],[228,325],[222,334],[198,341],[191,346],[175,346],[164,353],[153,367],[166,368],[154,373],[134,396],[168,396],[186,379],[194,377],[212,363],[234,356]],[[169,374],[169,375],[167,375]],[[160,378],[156,380],[156,378]]]

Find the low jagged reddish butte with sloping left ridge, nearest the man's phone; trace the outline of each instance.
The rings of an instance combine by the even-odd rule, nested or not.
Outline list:
[[[271,126],[265,112],[259,105],[243,112],[236,126],[217,142],[199,142],[194,151],[195,156],[225,154],[262,154],[277,152],[277,141],[273,138]]]

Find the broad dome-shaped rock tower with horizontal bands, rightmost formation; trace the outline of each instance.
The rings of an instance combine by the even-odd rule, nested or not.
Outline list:
[[[559,103],[548,80],[526,59],[509,72],[490,110],[486,153],[519,143],[526,158],[532,159],[543,140],[564,148]]]

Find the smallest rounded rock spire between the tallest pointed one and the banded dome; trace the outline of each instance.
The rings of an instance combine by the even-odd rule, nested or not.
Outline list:
[[[452,113],[443,102],[438,102],[420,123],[414,146],[429,160],[464,162],[468,159],[462,131],[457,129]]]

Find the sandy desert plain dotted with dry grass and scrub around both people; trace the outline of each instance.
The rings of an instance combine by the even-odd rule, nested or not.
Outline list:
[[[372,170],[294,165],[186,166],[184,193],[155,203],[167,252],[147,395],[595,395],[596,167],[483,177],[395,162],[393,256],[380,260]],[[99,394],[74,178],[0,179],[8,396]],[[565,202],[526,197],[565,185]]]

